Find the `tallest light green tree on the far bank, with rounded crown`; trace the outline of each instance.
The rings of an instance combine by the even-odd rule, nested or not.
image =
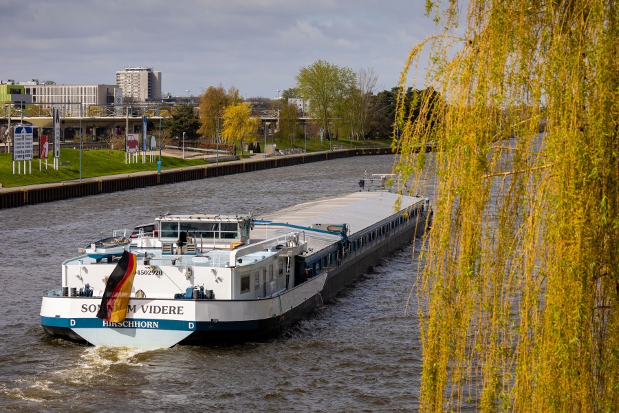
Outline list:
[[[298,94],[310,100],[310,112],[325,134],[337,134],[340,116],[345,114],[345,100],[354,88],[355,79],[356,74],[348,67],[322,60],[301,67],[296,75]]]

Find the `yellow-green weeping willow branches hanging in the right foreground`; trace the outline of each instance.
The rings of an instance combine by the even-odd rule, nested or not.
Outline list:
[[[402,94],[394,142],[413,191],[435,189],[415,287],[420,407],[617,411],[617,2],[467,5],[461,28],[457,1],[427,2],[444,32],[413,47],[400,81],[429,49],[442,101],[422,96],[417,116]]]

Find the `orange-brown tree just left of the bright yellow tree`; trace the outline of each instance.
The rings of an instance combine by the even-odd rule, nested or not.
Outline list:
[[[217,139],[218,118],[224,115],[224,109],[228,105],[241,103],[241,95],[239,89],[234,86],[226,91],[223,85],[209,86],[208,89],[200,96],[200,128],[199,133],[206,138],[211,138],[213,141]]]

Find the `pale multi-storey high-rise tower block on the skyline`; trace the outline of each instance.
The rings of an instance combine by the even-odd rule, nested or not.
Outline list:
[[[116,85],[124,97],[140,102],[161,100],[161,72],[153,72],[152,67],[125,67],[116,72]]]

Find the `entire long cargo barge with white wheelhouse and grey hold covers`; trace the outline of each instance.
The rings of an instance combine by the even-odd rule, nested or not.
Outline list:
[[[272,337],[425,231],[427,200],[404,198],[395,213],[398,195],[374,192],[291,207],[261,222],[247,215],[162,215],[157,237],[131,245],[138,260],[122,323],[97,317],[120,263],[81,255],[63,262],[63,287],[43,295],[41,326],[94,346],[144,349]],[[210,225],[220,221],[227,226],[218,226],[217,235]],[[176,246],[183,229],[193,235]]]

